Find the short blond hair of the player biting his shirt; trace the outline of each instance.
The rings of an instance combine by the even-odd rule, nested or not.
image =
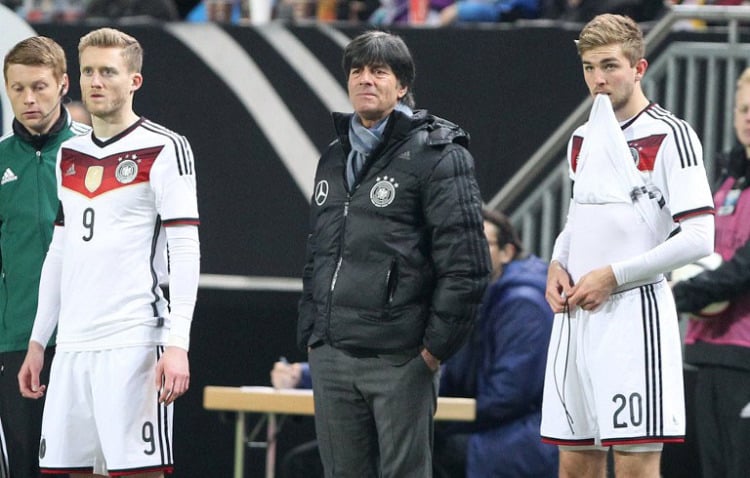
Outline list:
[[[597,15],[581,30],[576,40],[578,54],[607,45],[620,45],[630,66],[644,57],[646,46],[641,27],[630,17],[605,13]]]

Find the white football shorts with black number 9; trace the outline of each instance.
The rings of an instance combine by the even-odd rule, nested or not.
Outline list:
[[[39,449],[44,473],[171,473],[172,405],[158,402],[161,346],[55,354]]]

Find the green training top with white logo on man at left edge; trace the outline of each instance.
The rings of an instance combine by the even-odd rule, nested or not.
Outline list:
[[[14,120],[13,133],[0,138],[0,352],[28,347],[59,204],[57,151],[66,139],[90,131],[61,108],[48,134],[32,135]]]

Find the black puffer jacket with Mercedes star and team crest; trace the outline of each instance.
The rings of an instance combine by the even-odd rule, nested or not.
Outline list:
[[[468,135],[394,111],[353,191],[350,115],[315,177],[298,344],[360,353],[424,346],[441,360],[463,344],[490,272]]]

